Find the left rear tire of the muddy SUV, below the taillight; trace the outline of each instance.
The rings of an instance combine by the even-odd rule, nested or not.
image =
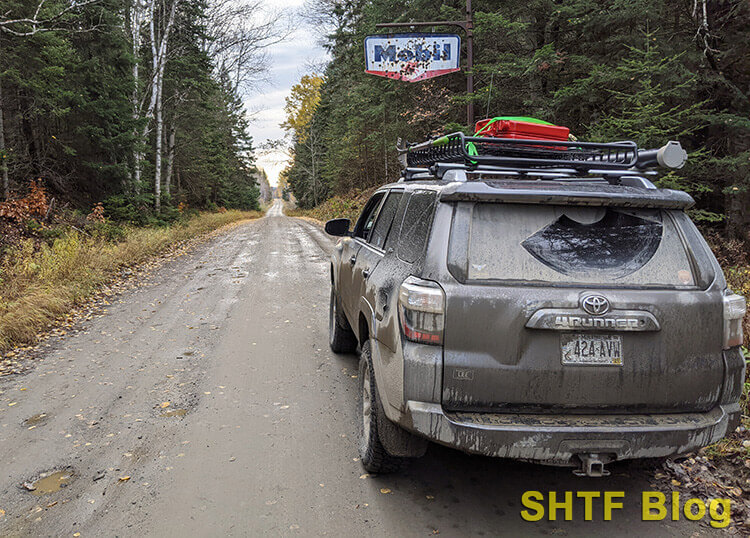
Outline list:
[[[362,346],[359,360],[359,410],[359,457],[365,470],[385,474],[406,467],[409,458],[392,456],[380,442],[378,424],[382,424],[382,421],[388,418],[380,402],[375,375],[372,372],[369,341]]]

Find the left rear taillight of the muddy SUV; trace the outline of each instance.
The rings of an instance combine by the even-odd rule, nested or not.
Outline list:
[[[404,337],[420,344],[443,344],[445,293],[435,282],[410,276],[398,291]]]

